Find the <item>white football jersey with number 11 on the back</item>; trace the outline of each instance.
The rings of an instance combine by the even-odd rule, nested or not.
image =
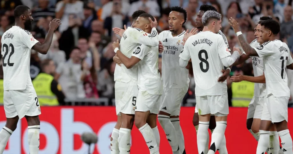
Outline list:
[[[290,89],[286,77],[286,66],[293,60],[286,43],[280,40],[268,41],[255,47],[258,56],[263,58],[266,95],[290,97]]]

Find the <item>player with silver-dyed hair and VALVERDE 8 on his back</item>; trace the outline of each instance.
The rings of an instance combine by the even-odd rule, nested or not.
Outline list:
[[[232,55],[221,35],[221,14],[206,11],[202,16],[204,28],[202,32],[190,36],[180,53],[179,65],[184,68],[192,60],[196,108],[199,114],[197,148],[204,154],[207,148],[210,115],[214,114],[216,128],[212,133],[212,142],[208,154],[214,154],[219,148],[227,126],[229,114],[227,83],[218,82],[225,67],[230,67],[240,55],[237,49]],[[236,49],[236,48],[235,48]]]

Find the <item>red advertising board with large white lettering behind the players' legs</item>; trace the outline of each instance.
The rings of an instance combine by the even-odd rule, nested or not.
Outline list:
[[[117,117],[115,107],[47,107],[41,108],[39,154],[84,154],[88,146],[80,140],[80,134],[86,131],[98,136],[98,143],[91,146],[93,154],[110,154],[110,136]],[[0,128],[5,125],[5,113],[0,107]],[[180,124],[185,138],[186,153],[197,153],[196,133],[192,124],[194,107],[182,107]],[[226,129],[226,142],[229,153],[255,153],[257,142],[246,129],[247,108],[230,108]],[[289,109],[289,120],[293,109]],[[159,122],[158,122],[159,125]],[[289,121],[289,129],[293,124]],[[160,131],[160,153],[171,154],[171,147],[163,129]],[[292,133],[291,133],[292,134]],[[149,154],[144,138],[134,126],[132,130],[131,153]],[[241,150],[239,150],[241,149]],[[22,119],[6,146],[5,154],[28,154],[27,122]]]

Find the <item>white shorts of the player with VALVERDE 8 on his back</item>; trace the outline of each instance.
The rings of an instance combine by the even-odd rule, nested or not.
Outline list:
[[[226,116],[229,114],[228,94],[217,96],[196,96],[195,112],[198,115],[214,114]]]

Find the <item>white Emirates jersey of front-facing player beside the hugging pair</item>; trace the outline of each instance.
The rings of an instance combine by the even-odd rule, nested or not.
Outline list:
[[[185,31],[173,37],[171,31],[162,31],[159,40],[163,43],[162,52],[162,81],[163,87],[183,89],[189,87],[188,70],[179,66],[179,54],[183,49],[181,44]]]

